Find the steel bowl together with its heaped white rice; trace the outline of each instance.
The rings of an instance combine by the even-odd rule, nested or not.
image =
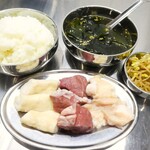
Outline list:
[[[28,8],[0,11],[0,73],[27,75],[43,68],[58,47],[54,21]]]

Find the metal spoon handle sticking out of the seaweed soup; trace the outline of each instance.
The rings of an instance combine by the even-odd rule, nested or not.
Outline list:
[[[115,19],[110,21],[107,24],[107,27],[111,30],[113,29],[120,21],[122,21],[124,18],[126,18],[131,12],[133,12],[138,6],[140,6],[144,1],[138,0],[134,4],[132,4],[128,9],[126,9],[124,12],[119,14]]]

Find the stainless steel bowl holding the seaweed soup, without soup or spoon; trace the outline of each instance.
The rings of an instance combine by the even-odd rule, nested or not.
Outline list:
[[[119,15],[119,12],[112,8],[106,8],[106,7],[100,7],[100,6],[85,6],[85,7],[77,8],[71,11],[65,17],[63,21],[63,28],[62,28],[63,41],[68,51],[71,53],[71,55],[86,64],[90,64],[94,66],[101,66],[101,67],[116,65],[122,62],[122,60],[124,60],[125,58],[127,58],[130,55],[130,53],[133,51],[137,42],[137,37],[138,37],[137,29],[135,25],[128,18],[125,18],[120,23],[120,25],[123,28],[128,29],[128,31],[130,32],[131,38],[132,38],[132,47],[130,49],[127,49],[123,53],[118,53],[114,55],[113,54],[110,54],[110,55],[94,54],[94,53],[90,53],[90,52],[85,51],[84,49],[79,48],[77,45],[71,42],[71,40],[67,37],[65,33],[67,23],[76,17],[87,16],[87,15],[99,15],[99,16],[104,16],[108,18],[115,18],[116,16]],[[98,58],[101,61],[97,62],[89,58]]]

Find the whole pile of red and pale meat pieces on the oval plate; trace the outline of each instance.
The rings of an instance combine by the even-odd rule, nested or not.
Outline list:
[[[21,123],[43,132],[85,134],[110,125],[123,127],[134,114],[111,83],[100,76],[75,75],[60,80],[31,79],[15,99]]]

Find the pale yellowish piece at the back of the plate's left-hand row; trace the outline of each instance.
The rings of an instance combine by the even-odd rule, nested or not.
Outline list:
[[[51,94],[56,91],[59,86],[59,81],[57,80],[39,80],[30,79],[20,88],[21,94],[32,95],[38,93]]]

